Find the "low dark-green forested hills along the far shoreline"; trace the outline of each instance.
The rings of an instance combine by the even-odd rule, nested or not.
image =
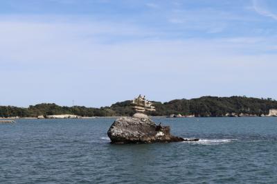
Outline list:
[[[37,117],[39,115],[75,114],[78,116],[132,116],[134,111],[130,107],[130,100],[117,102],[111,107],[61,107],[57,104],[37,104],[28,108],[0,106],[0,117]],[[169,116],[181,114],[182,116],[194,115],[197,117],[220,116],[263,116],[269,109],[277,109],[277,101],[270,98],[247,98],[232,96],[229,98],[205,96],[190,100],[172,100],[170,102],[153,102],[156,111],[150,112],[151,116]]]

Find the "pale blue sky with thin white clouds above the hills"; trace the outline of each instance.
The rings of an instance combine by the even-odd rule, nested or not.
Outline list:
[[[0,105],[277,99],[275,0],[0,0]]]

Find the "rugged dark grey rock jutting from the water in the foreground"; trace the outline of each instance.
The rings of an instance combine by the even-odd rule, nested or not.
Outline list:
[[[118,118],[107,132],[111,143],[151,143],[197,141],[184,139],[170,134],[169,126],[156,125],[148,116],[135,113],[132,118]]]

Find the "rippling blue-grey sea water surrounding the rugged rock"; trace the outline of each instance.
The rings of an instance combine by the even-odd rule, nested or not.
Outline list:
[[[153,118],[199,142],[111,145],[114,118],[0,124],[0,183],[277,183],[277,118]]]

